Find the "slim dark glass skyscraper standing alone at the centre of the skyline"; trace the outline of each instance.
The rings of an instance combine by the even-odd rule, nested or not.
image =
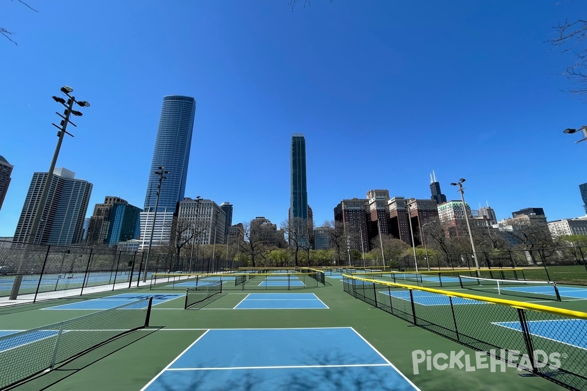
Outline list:
[[[306,188],[306,139],[302,133],[292,135],[291,149],[291,217],[308,220],[308,189]]]

